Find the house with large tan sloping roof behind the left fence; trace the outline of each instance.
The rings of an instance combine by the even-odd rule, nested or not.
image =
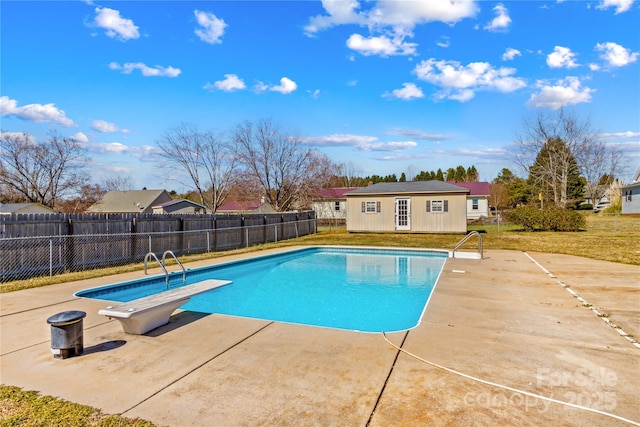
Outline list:
[[[88,213],[144,213],[173,200],[166,190],[109,191],[87,209]]]

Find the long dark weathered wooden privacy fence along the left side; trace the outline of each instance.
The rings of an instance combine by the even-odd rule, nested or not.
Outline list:
[[[0,282],[225,251],[316,233],[315,212],[0,215]]]

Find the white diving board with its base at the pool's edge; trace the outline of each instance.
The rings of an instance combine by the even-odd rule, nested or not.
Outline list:
[[[119,320],[122,329],[128,334],[142,335],[169,323],[171,313],[186,304],[192,296],[229,283],[231,283],[230,280],[203,280],[148,297],[110,305],[100,310],[98,314]]]

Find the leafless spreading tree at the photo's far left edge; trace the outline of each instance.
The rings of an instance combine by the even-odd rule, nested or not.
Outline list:
[[[27,133],[0,136],[0,185],[22,200],[55,208],[86,182],[84,148],[73,139],[52,135],[37,143]]]

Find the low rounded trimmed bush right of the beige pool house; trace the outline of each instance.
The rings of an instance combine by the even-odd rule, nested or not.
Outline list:
[[[516,208],[509,219],[527,231],[579,231],[586,228],[584,216],[567,209]]]

